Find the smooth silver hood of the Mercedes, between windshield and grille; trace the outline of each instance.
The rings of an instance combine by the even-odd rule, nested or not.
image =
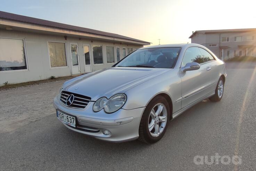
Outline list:
[[[166,68],[112,67],[68,80],[64,83],[63,90],[89,96],[92,101],[96,101],[103,96],[110,98],[116,93],[124,93],[170,70]]]

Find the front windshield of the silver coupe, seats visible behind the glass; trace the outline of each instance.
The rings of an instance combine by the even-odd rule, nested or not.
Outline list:
[[[180,48],[139,49],[114,67],[172,68]]]

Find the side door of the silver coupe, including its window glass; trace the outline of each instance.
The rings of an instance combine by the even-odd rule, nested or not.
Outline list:
[[[210,78],[208,77],[207,67],[202,59],[201,51],[198,47],[188,48],[183,56],[181,67],[189,62],[197,62],[200,64],[198,70],[182,72],[180,70],[180,77],[182,81],[182,102],[181,108],[184,108],[191,103],[206,96],[208,91],[208,84]]]

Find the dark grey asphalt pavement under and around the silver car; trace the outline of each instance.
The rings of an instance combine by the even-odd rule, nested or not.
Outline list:
[[[103,142],[68,130],[53,113],[0,133],[0,170],[256,170],[255,66],[228,64],[223,99],[184,112],[156,144]],[[194,162],[216,153],[239,155],[241,164]]]

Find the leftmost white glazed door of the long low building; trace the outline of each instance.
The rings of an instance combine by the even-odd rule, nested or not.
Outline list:
[[[69,43],[69,48],[71,56],[72,75],[80,74],[81,71],[79,63],[78,43]]]

